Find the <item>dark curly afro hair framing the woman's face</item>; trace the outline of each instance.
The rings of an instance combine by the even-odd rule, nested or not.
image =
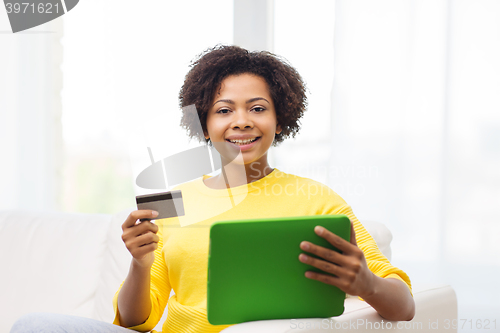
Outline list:
[[[185,108],[195,105],[204,132],[207,131],[207,113],[222,81],[230,75],[244,73],[264,78],[276,110],[281,133],[276,134],[273,146],[288,137],[295,137],[300,129],[299,119],[307,107],[306,86],[301,76],[288,62],[267,51],[249,52],[238,46],[216,45],[201,53],[191,62],[179,92],[179,105],[183,108],[181,126],[191,138],[209,143],[193,122],[194,114]]]

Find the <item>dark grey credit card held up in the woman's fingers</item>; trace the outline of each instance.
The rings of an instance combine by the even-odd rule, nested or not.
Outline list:
[[[138,195],[135,197],[135,200],[137,202],[137,209],[157,211],[158,216],[155,217],[155,220],[184,215],[184,203],[182,202],[181,191]]]

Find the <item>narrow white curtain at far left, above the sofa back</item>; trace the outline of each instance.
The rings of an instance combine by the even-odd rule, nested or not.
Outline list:
[[[0,9],[0,209],[55,209],[62,169],[62,23],[13,34]]]

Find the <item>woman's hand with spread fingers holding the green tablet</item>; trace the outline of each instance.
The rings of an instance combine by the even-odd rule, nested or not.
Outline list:
[[[352,222],[350,242],[320,226],[315,227],[314,232],[326,239],[342,253],[310,242],[301,242],[300,248],[303,251],[312,253],[322,259],[301,253],[299,260],[329,273],[321,274],[307,271],[305,273],[306,277],[337,286],[349,295],[360,296],[362,298],[372,295],[375,292],[375,275],[368,268],[365,255],[356,243],[356,234]]]

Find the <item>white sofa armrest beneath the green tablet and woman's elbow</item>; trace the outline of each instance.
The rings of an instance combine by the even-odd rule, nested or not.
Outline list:
[[[346,299],[344,314],[332,318],[284,319],[253,321],[234,325],[223,333],[320,333],[320,332],[456,332],[452,329],[457,319],[457,298],[447,285],[429,286],[414,293],[416,313],[409,322],[387,321],[366,302],[358,298]]]

